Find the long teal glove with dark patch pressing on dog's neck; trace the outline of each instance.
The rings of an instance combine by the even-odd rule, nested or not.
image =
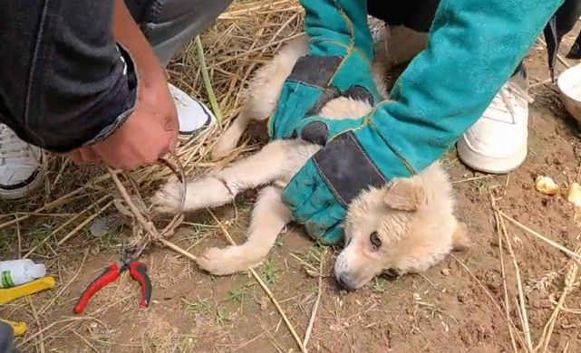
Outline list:
[[[563,0],[442,0],[428,48],[366,117],[303,119],[301,138],[324,144],[283,193],[307,232],[343,239],[347,205],[368,186],[412,176],[470,129]]]

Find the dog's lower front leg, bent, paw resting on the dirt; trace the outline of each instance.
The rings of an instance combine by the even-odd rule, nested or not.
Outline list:
[[[247,242],[226,248],[210,248],[197,260],[199,267],[215,275],[246,271],[262,262],[276,242],[276,236],[292,220],[281,201],[282,189],[267,186],[260,192],[252,211]]]

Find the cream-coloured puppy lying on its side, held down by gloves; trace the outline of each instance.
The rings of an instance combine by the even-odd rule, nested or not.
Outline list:
[[[297,37],[257,72],[242,111],[212,151],[214,159],[225,157],[237,146],[251,120],[266,120],[276,110],[286,77],[308,50],[307,37]],[[373,62],[374,81],[385,96],[384,72],[394,64],[392,58],[377,55]],[[367,101],[340,97],[329,101],[320,115],[330,119],[358,118],[371,109]],[[243,190],[266,186],[253,210],[247,242],[211,248],[198,258],[199,266],[213,274],[245,271],[266,257],[276,236],[293,221],[281,201],[283,189],[320,148],[300,138],[272,141],[257,154],[232,163],[213,176],[189,182],[183,210],[179,210],[182,188],[176,182],[163,186],[153,196],[153,203],[165,213],[194,211],[225,205]],[[451,250],[465,248],[469,244],[466,228],[453,211],[452,187],[438,162],[418,176],[363,191],[348,209],[346,247],[335,263],[337,280],[346,289],[354,290],[387,270],[400,275],[422,272]],[[375,246],[377,239],[375,245],[370,241],[374,232],[380,246]]]

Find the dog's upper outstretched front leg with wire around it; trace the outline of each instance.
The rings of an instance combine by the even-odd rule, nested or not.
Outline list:
[[[152,198],[156,211],[178,213],[218,207],[234,201],[242,191],[272,183],[286,174],[289,149],[300,144],[296,140],[277,140],[269,143],[257,154],[234,162],[215,176],[206,176],[189,182],[186,187],[184,208],[179,209],[183,187],[179,182],[162,186]]]

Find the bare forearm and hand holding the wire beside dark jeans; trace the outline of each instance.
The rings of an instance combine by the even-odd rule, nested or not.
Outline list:
[[[165,70],[122,0],[115,1],[113,34],[131,52],[139,72],[136,107],[109,138],[67,156],[77,163],[105,162],[123,169],[158,163],[175,148],[179,134],[178,112]]]

